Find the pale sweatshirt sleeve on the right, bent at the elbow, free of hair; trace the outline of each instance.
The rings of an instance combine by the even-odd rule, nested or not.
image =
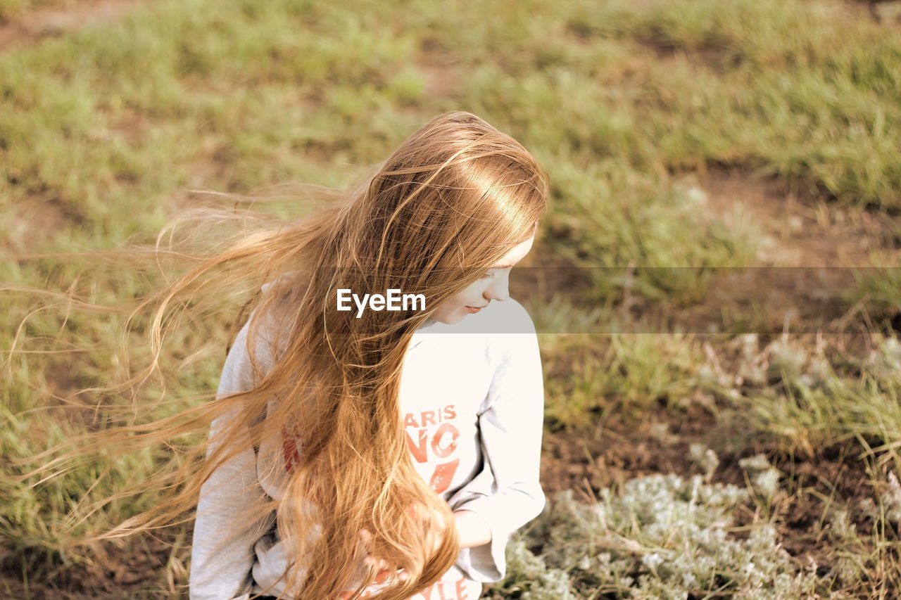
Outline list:
[[[516,331],[496,335],[491,343],[497,360],[495,376],[478,414],[484,467],[461,487],[448,504],[451,510],[481,515],[491,541],[460,550],[457,566],[476,581],[505,577],[505,549],[510,535],[542,512],[539,483],[544,391],[542,362],[532,319],[514,303]]]

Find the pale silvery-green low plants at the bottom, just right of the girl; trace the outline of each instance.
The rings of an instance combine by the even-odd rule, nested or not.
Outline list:
[[[697,459],[703,450],[693,452]],[[758,476],[776,472],[756,458],[747,464]],[[736,509],[750,497],[751,490],[738,486],[676,475],[605,488],[596,503],[562,492],[514,536],[495,597],[685,600],[714,591],[748,599],[813,597],[817,578],[796,566],[769,523],[733,527]],[[540,556],[529,548],[541,548]]]

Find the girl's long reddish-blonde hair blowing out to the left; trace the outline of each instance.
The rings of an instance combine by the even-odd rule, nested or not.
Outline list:
[[[464,112],[425,123],[370,173],[344,192],[320,189],[331,204],[314,214],[269,219],[229,247],[186,256],[193,266],[142,302],[159,359],[174,307],[211,290],[268,283],[245,305],[252,386],[87,444],[159,443],[217,423],[221,443],[196,448],[168,475],[168,496],[111,536],[176,521],[216,468],[277,441],[297,450],[274,467],[284,493],[260,494],[247,517],[274,515],[289,555],[305,557],[282,579],[295,597],[337,598],[359,581],[364,529],[378,556],[410,576],[374,600],[407,598],[451,568],[459,551],[453,515],[414,470],[398,398],[401,369],[414,330],[433,309],[534,234],[548,179],[520,143]],[[357,318],[336,310],[338,288],[423,294],[427,310]],[[266,361],[258,356],[262,339],[272,341]],[[139,375],[132,381],[147,373]],[[442,541],[432,551],[436,532]],[[366,573],[358,591],[375,575]]]

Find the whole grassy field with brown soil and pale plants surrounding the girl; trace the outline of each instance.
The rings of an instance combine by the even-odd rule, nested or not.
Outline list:
[[[71,544],[177,452],[10,477],[148,357],[79,300],[153,265],[84,254],[194,190],[348,186],[449,110],[551,177],[512,283],[549,503],[485,597],[901,596],[901,2],[850,0],[0,0],[0,596],[187,597],[189,523]],[[173,335],[141,418],[214,390],[246,293]]]

